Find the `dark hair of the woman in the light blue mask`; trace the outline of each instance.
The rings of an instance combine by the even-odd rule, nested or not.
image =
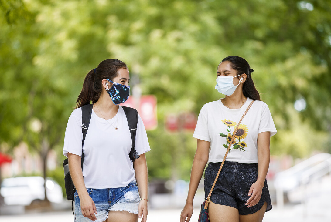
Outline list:
[[[251,69],[250,65],[248,62],[239,56],[231,55],[222,60],[224,61],[229,61],[231,63],[231,68],[237,71],[237,75],[242,75],[246,73],[247,78],[246,81],[243,84],[243,93],[244,96],[249,97],[253,100],[261,100],[260,99],[260,94],[256,90],[253,79],[251,77],[251,73],[254,71]],[[238,79],[240,76],[237,77]]]

